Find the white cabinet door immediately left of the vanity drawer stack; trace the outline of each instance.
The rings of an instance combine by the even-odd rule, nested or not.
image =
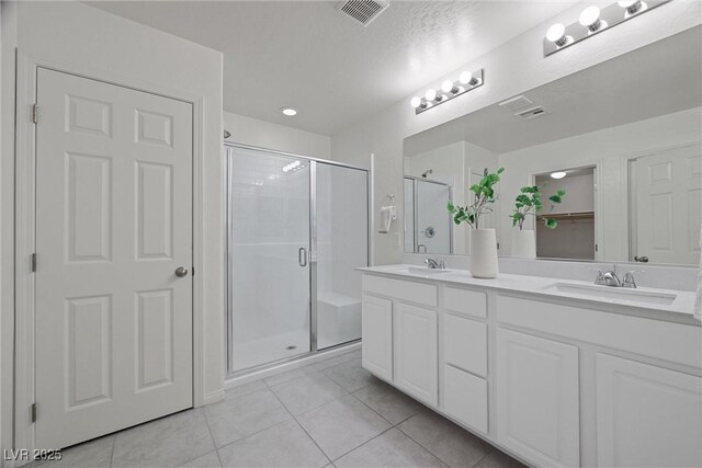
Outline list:
[[[437,311],[396,303],[394,313],[395,385],[437,406]]]

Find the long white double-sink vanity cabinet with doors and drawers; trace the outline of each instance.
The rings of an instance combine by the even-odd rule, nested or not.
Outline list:
[[[702,466],[697,322],[435,276],[363,275],[363,367],[533,466]]]

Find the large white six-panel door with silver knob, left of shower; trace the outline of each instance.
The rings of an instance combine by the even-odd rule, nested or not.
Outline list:
[[[47,69],[37,103],[36,444],[58,448],[192,406],[192,105]]]

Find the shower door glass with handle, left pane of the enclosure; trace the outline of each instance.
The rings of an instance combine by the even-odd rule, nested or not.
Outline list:
[[[310,163],[229,148],[229,369],[310,351]]]

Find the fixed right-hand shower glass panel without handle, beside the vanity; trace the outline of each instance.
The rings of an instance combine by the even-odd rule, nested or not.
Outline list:
[[[313,322],[324,350],[361,338],[361,273],[354,269],[369,261],[369,191],[366,171],[315,164]]]

